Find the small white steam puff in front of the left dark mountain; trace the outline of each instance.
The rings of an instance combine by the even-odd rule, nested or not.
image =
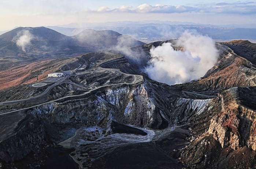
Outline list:
[[[18,32],[12,41],[15,42],[18,47],[21,47],[24,52],[26,52],[26,49],[31,45],[31,40],[33,39],[35,39],[34,35],[32,35],[29,30],[24,30]]]

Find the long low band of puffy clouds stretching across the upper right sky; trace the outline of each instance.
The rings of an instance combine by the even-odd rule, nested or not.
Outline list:
[[[150,4],[141,4],[135,9],[131,6],[122,6],[115,9],[101,7],[97,12],[135,12],[135,13],[234,13],[234,14],[255,14],[255,2],[236,2],[236,3],[216,3],[216,4],[200,4],[196,6],[185,5],[161,5],[152,6]]]

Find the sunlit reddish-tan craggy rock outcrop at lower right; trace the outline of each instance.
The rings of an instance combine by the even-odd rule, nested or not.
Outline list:
[[[255,87],[231,88],[220,94],[222,111],[211,119],[208,132],[213,134],[222,148],[248,146],[256,150],[256,111],[241,104],[240,96],[244,92],[255,94]]]

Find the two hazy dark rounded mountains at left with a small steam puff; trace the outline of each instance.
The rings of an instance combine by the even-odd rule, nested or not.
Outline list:
[[[115,31],[84,30],[75,36],[66,36],[45,27],[19,27],[0,35],[0,69],[19,62],[77,56],[120,45],[132,47],[142,44]]]

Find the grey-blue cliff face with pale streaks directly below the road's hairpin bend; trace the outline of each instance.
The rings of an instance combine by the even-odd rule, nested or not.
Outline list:
[[[106,126],[109,120],[140,127],[158,128],[167,125],[143,84],[111,87],[73,100],[60,100],[29,110],[55,123],[80,123],[86,126]]]

